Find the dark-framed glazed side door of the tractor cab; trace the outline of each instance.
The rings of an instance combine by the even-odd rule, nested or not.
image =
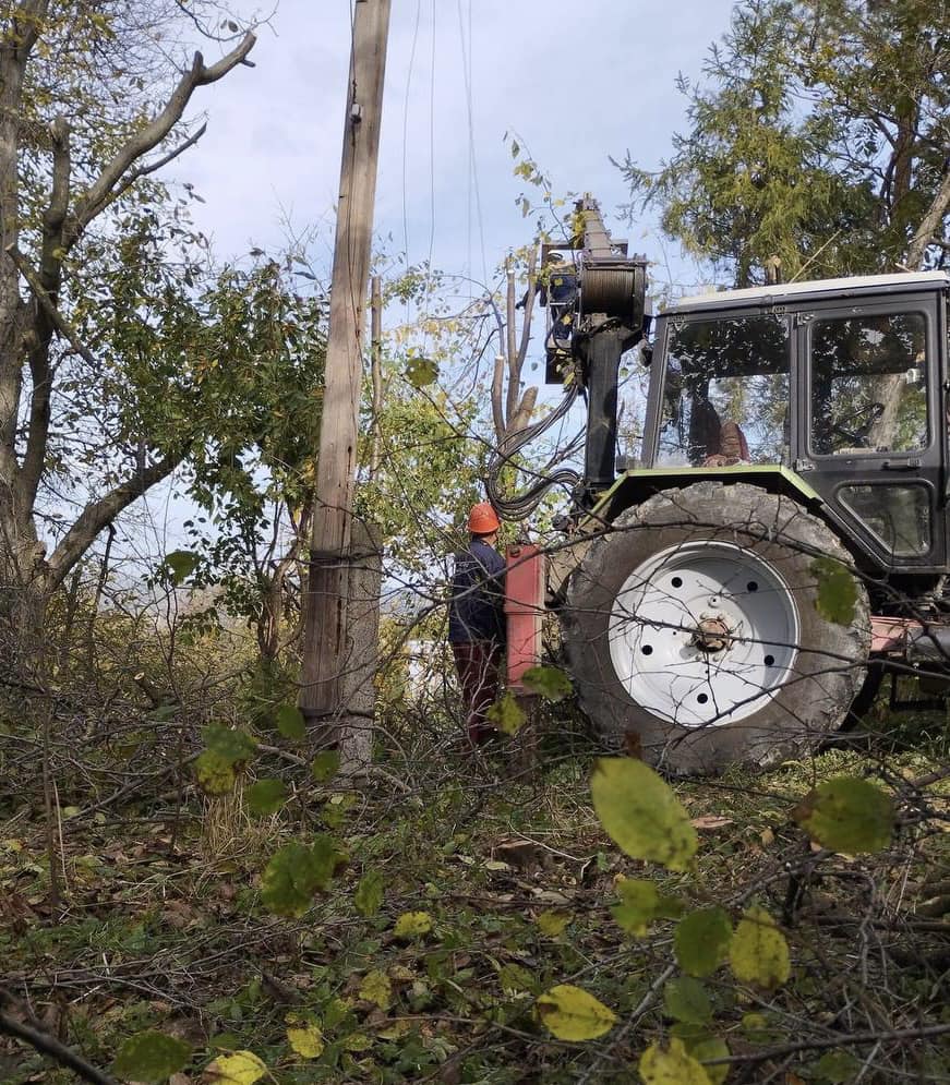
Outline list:
[[[816,304],[796,318],[796,467],[883,569],[946,564],[938,316],[926,293]]]

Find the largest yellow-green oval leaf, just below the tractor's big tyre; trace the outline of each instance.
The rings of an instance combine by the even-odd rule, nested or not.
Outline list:
[[[600,758],[590,780],[593,808],[611,840],[630,858],[687,870],[696,830],[672,787],[642,761]]]

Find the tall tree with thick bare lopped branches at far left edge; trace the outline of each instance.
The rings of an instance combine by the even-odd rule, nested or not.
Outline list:
[[[180,69],[176,34],[204,31],[217,11],[173,0],[0,5],[0,616],[21,636],[37,634],[49,594],[97,534],[199,435],[194,424],[173,437],[130,425],[142,414],[136,366],[167,366],[187,351],[194,257],[167,269],[159,299],[96,302],[129,267],[141,278],[189,239],[154,174],[201,137],[204,126],[183,120],[195,92],[254,45],[228,20],[229,51],[211,65],[196,52]],[[157,300],[167,329],[144,312]],[[117,345],[131,353],[109,357]],[[86,393],[100,410],[76,434],[71,401]],[[76,504],[64,522],[65,503],[50,489],[57,472]]]

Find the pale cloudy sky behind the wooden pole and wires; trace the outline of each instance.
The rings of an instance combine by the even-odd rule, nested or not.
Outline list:
[[[591,192],[615,237],[663,260],[650,224],[620,218],[627,192],[610,157],[629,149],[652,167],[670,154],[671,134],[686,126],[677,72],[701,74],[731,9],[731,0],[393,0],[377,250],[493,278],[532,233],[515,205],[525,185],[513,176],[508,133],[555,191]],[[239,0],[237,11],[253,9]],[[195,99],[208,132],[175,169],[205,201],[194,217],[220,257],[279,249],[316,227],[314,257],[329,266],[350,19],[350,0],[279,0],[258,32],[255,67]]]

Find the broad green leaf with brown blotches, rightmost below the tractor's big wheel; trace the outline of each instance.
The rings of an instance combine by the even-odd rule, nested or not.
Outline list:
[[[792,816],[816,843],[849,855],[880,852],[890,844],[894,824],[890,796],[855,776],[826,780]]]

